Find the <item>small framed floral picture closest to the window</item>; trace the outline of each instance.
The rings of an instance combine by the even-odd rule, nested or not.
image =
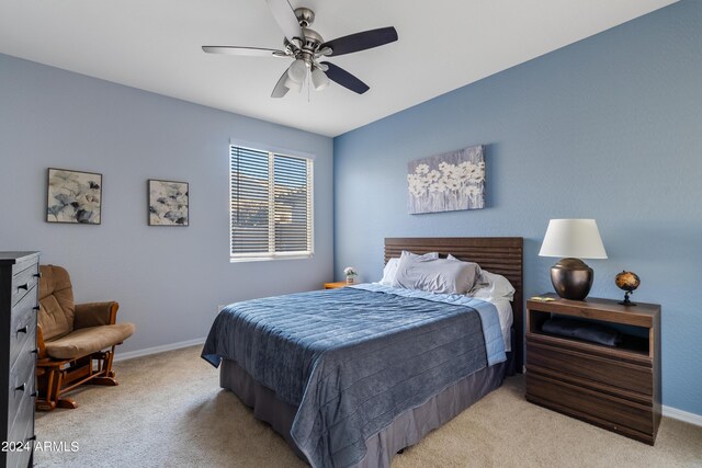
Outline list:
[[[149,226],[188,226],[190,222],[188,182],[149,179]]]

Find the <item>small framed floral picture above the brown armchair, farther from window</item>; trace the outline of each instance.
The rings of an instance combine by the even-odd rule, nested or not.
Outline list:
[[[101,222],[102,174],[49,168],[46,193],[47,222]]]

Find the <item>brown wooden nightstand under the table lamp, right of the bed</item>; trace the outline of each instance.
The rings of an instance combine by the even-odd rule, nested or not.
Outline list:
[[[526,301],[526,400],[654,445],[660,423],[660,306],[588,297]],[[620,346],[548,334],[552,315],[627,326]]]

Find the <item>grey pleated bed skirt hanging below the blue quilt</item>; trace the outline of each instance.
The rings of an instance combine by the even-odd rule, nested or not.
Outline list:
[[[502,385],[510,369],[512,353],[508,361],[485,367],[431,397],[424,403],[400,413],[393,423],[366,440],[365,457],[358,468],[385,468],[397,452],[417,444],[424,435],[449,422],[463,410]],[[509,374],[512,374],[509,372]],[[290,435],[297,408],[275,397],[275,392],[256,381],[235,361],[223,359],[219,384],[231,390],[248,407],[257,419],[269,423],[281,434],[298,457],[306,457]]]

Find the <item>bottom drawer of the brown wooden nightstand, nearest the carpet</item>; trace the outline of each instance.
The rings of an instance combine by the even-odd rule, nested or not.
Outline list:
[[[611,431],[649,442],[653,408],[526,373],[526,399]]]

